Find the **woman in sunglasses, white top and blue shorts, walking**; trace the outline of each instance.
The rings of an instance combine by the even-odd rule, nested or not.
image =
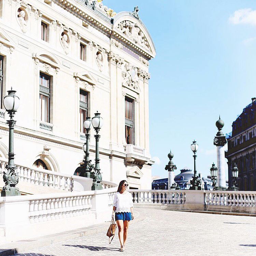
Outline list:
[[[133,202],[131,193],[126,191],[128,184],[126,180],[120,181],[116,194],[114,195],[113,213],[115,214],[116,224],[118,226],[118,237],[120,241],[120,251],[124,251],[127,240],[129,221],[133,217]]]

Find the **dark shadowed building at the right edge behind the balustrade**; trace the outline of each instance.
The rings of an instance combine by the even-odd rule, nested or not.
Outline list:
[[[256,190],[256,98],[247,105],[232,124],[232,132],[227,134],[228,180],[232,186],[231,170],[237,163],[239,190]]]

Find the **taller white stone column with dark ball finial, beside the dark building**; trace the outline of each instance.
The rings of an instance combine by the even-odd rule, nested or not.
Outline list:
[[[227,139],[222,131],[224,126],[223,120],[219,117],[219,120],[216,122],[216,127],[218,128],[218,132],[214,138],[213,144],[216,146],[217,149],[217,187],[216,189],[223,189],[225,190],[226,187],[226,175],[225,175],[225,150],[224,146],[227,143]]]

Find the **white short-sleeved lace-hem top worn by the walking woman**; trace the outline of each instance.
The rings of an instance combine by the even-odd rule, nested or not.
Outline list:
[[[122,194],[116,192],[114,195],[113,206],[116,207],[115,212],[131,212],[131,207],[133,207],[131,193],[128,191],[125,191]]]

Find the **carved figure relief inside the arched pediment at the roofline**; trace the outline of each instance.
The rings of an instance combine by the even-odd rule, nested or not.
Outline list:
[[[145,38],[145,35],[141,31],[137,23],[132,23],[128,20],[124,20],[118,24],[117,29],[135,43],[149,50],[148,42]]]

